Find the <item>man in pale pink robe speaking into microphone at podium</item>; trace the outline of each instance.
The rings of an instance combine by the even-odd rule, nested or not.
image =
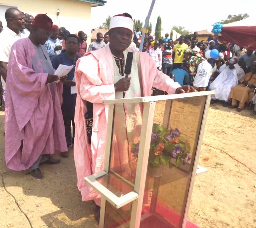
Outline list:
[[[102,171],[104,167],[108,105],[103,104],[102,101],[116,99],[117,93],[123,94],[122,91],[129,89],[131,80],[135,80],[134,75],[129,78],[123,77],[116,83],[113,80],[116,77],[115,64],[118,64],[118,61],[121,65],[125,62],[124,53],[133,52],[133,56],[136,55],[139,58],[135,60],[135,64],[137,61],[137,65],[141,66],[141,72],[137,72],[137,75],[141,74],[141,91],[137,95],[134,93],[133,97],[150,96],[153,86],[167,91],[168,94],[195,91],[190,86],[180,87],[177,82],[156,69],[153,59],[147,53],[128,48],[131,43],[132,30],[133,21],[129,14],[112,17],[109,46],[81,57],[76,65],[75,78],[78,94],[75,110],[74,159],[78,176],[77,185],[81,191],[82,200],[94,199],[97,205],[100,205],[100,195],[85,183],[84,177]],[[88,142],[84,117],[87,113],[86,101],[93,103],[91,145]]]

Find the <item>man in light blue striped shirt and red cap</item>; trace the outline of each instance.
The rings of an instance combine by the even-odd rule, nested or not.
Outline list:
[[[61,54],[62,44],[61,40],[58,38],[59,33],[59,27],[57,25],[53,25],[52,33],[49,39],[45,42],[45,47],[50,59]]]

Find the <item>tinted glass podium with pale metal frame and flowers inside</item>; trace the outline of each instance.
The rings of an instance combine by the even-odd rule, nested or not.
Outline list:
[[[103,101],[101,228],[185,228],[207,112],[215,91]]]

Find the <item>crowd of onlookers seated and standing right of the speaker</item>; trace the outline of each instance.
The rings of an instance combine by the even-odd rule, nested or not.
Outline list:
[[[134,31],[133,41],[140,45],[141,32],[138,27]],[[256,75],[254,64],[256,52],[229,43],[216,43],[215,36],[198,41],[198,34],[180,36],[177,40],[168,38],[153,40],[151,32],[147,32],[142,52],[153,58],[158,70],[175,78],[175,69],[183,69],[189,74],[184,77],[184,84],[190,84],[198,91],[215,90],[211,103],[217,100],[223,106],[236,108],[240,112],[245,104],[254,104],[256,114]],[[211,58],[205,53],[216,49],[218,57]],[[239,103],[238,103],[239,102]]]

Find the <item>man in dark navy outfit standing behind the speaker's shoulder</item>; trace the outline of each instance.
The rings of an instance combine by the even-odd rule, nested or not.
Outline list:
[[[55,56],[52,58],[52,65],[54,69],[57,69],[60,64],[63,65],[75,65],[78,58],[81,56],[77,55],[77,51],[79,48],[79,39],[76,35],[70,34],[67,36],[66,39],[66,52],[62,53],[58,56]],[[63,83],[63,103],[61,106],[62,109],[62,115],[65,125],[65,134],[66,134],[66,142],[67,146],[73,144],[74,146],[74,135],[75,135],[75,122],[74,122],[74,116],[75,116],[75,106],[76,106],[76,98],[77,94],[71,94],[71,86],[75,86],[76,82],[73,81],[75,73],[75,67],[72,68],[72,70],[68,73],[68,78]],[[71,122],[73,126],[73,137],[71,136]],[[68,152],[62,152],[62,157],[68,157]]]

